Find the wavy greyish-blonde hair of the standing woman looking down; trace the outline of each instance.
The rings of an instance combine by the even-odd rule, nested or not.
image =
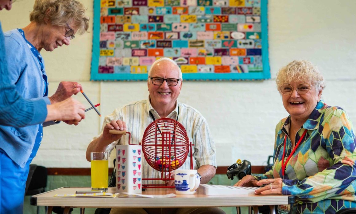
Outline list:
[[[47,17],[51,24],[57,26],[72,23],[78,29],[78,33],[83,34],[89,27],[86,10],[77,0],[36,0],[30,13],[30,21],[43,23]]]

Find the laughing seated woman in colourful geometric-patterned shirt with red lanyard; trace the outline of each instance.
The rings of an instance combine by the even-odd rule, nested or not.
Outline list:
[[[276,126],[273,168],[235,186],[266,185],[255,193],[294,195],[295,203],[279,206],[280,213],[356,207],[354,128],[343,109],[320,100],[323,76],[310,62],[293,61],[279,70],[277,87],[289,116]]]

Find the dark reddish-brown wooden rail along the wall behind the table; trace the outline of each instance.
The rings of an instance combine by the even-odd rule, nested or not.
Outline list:
[[[216,174],[226,174],[229,166],[218,166]],[[90,168],[47,168],[48,175],[90,175]],[[111,175],[113,168],[109,168],[109,175]],[[265,166],[252,166],[252,173],[265,173]]]

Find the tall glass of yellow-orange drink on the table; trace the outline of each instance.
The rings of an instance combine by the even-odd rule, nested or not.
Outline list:
[[[109,166],[107,152],[90,153],[91,189],[108,191]]]

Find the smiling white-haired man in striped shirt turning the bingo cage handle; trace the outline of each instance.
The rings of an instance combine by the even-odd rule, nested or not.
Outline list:
[[[216,159],[215,144],[210,135],[205,118],[189,105],[179,103],[177,98],[182,89],[182,71],[173,60],[163,57],[153,63],[148,72],[147,100],[126,104],[117,108],[105,117],[101,134],[93,139],[87,149],[87,160],[90,152],[111,152],[116,144],[127,144],[128,136],[112,135],[109,130],[127,130],[131,133],[131,142],[138,144],[142,140],[143,132],[151,122],[159,118],[171,118],[184,126],[188,137],[192,139],[193,168],[198,169],[201,176],[200,183],[207,183],[215,175]],[[190,160],[187,158],[179,169],[189,169]],[[146,161],[142,164],[142,177],[159,178],[161,172],[151,168]],[[148,182],[148,181],[144,181]],[[151,183],[162,181],[150,181]],[[143,183],[147,184],[147,183]],[[162,184],[162,183],[161,183]],[[174,185],[173,181],[168,183]],[[224,213],[219,208],[113,208],[111,214],[117,213]]]

